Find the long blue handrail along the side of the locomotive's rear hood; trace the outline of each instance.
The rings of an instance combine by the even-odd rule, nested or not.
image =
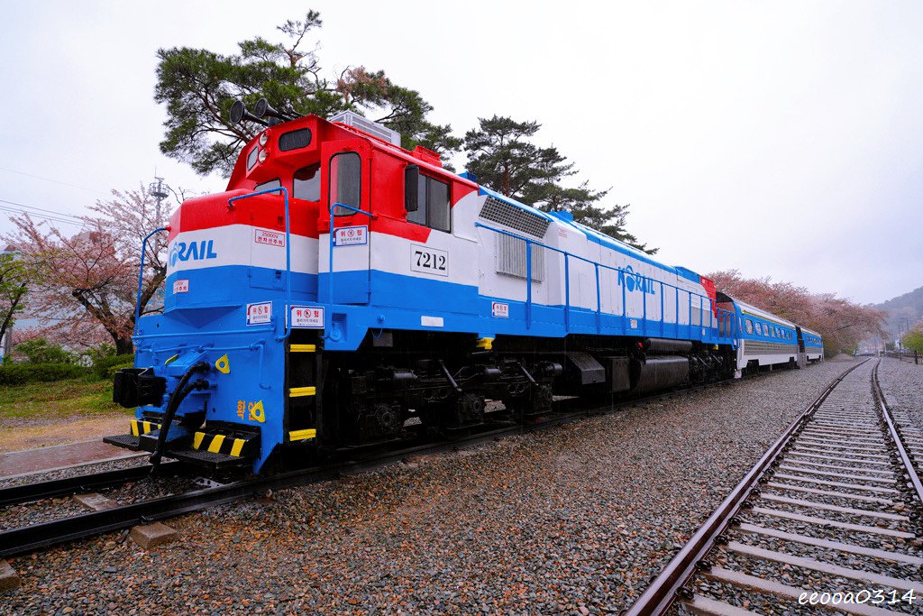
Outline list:
[[[542,242],[539,242],[539,241],[530,239],[529,237],[523,237],[523,236],[519,236],[519,235],[514,234],[514,233],[510,233],[509,231],[504,231],[503,229],[497,229],[496,227],[492,227],[492,226],[490,226],[489,224],[484,224],[484,223],[475,222],[475,223],[474,223],[474,226],[475,226],[475,227],[482,227],[482,228],[484,228],[484,229],[486,229],[486,230],[488,230],[488,231],[493,231],[494,233],[500,234],[501,236],[515,237],[516,239],[520,239],[520,240],[522,240],[523,242],[525,242],[525,244],[526,244],[526,306],[525,306],[525,308],[526,308],[526,327],[527,327],[527,328],[531,328],[531,326],[532,326],[532,245],[538,246],[538,247],[540,247],[540,248],[545,248],[545,249],[551,250],[552,252],[557,252],[557,253],[559,253],[559,254],[564,255],[564,296],[565,296],[564,323],[565,323],[565,328],[567,329],[568,332],[570,331],[570,281],[569,281],[569,270],[570,270],[570,268],[569,268],[569,258],[576,259],[576,260],[581,260],[581,261],[583,261],[583,262],[585,262],[585,263],[589,263],[589,264],[593,265],[594,271],[595,271],[595,273],[596,273],[596,276],[595,276],[595,278],[596,278],[596,310],[595,310],[595,312],[596,312],[597,330],[600,330],[600,329],[601,329],[601,318],[602,318],[602,297],[601,297],[601,285],[600,285],[600,283],[599,283],[599,268],[603,268],[603,269],[605,269],[605,270],[610,270],[610,271],[612,271],[612,272],[618,272],[618,273],[621,273],[623,276],[628,276],[628,275],[640,276],[640,277],[641,277],[641,280],[642,280],[643,282],[649,282],[649,283],[652,283],[652,284],[653,284],[653,282],[657,282],[657,283],[659,283],[659,284],[661,285],[661,311],[660,311],[661,333],[663,333],[663,330],[664,330],[664,321],[665,321],[665,319],[664,319],[664,309],[663,309],[663,301],[664,301],[664,299],[663,299],[663,296],[664,296],[663,289],[664,289],[664,287],[670,287],[670,288],[673,288],[673,289],[676,290],[676,308],[677,308],[677,316],[676,316],[677,322],[676,322],[676,326],[677,326],[677,328],[678,328],[679,325],[680,325],[680,324],[679,324],[679,292],[680,292],[680,291],[682,291],[683,293],[689,295],[689,301],[688,301],[688,303],[687,303],[687,321],[688,321],[688,322],[687,322],[687,324],[686,324],[686,327],[689,328],[690,331],[691,331],[692,325],[693,325],[693,324],[692,324],[692,297],[693,297],[693,296],[699,297],[699,298],[702,300],[702,301],[700,301],[700,303],[699,303],[699,310],[700,310],[700,313],[701,313],[701,310],[705,307],[705,303],[704,303],[704,302],[707,301],[707,302],[708,302],[708,306],[709,306],[710,308],[713,308],[713,310],[717,310],[717,311],[720,311],[720,312],[727,312],[728,314],[730,314],[730,311],[725,310],[725,308],[717,308],[716,306],[714,306],[714,305],[713,305],[714,303],[713,303],[711,297],[709,297],[709,296],[703,296],[703,295],[701,295],[701,293],[695,293],[694,291],[689,291],[688,289],[681,289],[681,288],[678,287],[676,284],[669,284],[669,283],[665,283],[664,281],[660,281],[660,280],[655,281],[653,278],[650,278],[650,277],[648,277],[648,276],[645,276],[644,274],[639,273],[639,272],[630,272],[630,274],[629,274],[629,272],[627,272],[627,271],[625,270],[625,268],[621,268],[621,267],[613,266],[613,265],[606,265],[605,263],[600,263],[600,262],[598,262],[598,261],[590,260],[590,259],[587,259],[587,258],[585,258],[585,257],[581,257],[580,255],[575,255],[575,254],[573,254],[573,253],[571,253],[571,252],[568,252],[567,250],[563,250],[563,249],[561,249],[561,248],[555,248],[555,247],[553,247],[553,246],[548,246],[547,244],[544,244],[544,243],[542,243]],[[642,289],[644,288],[644,286],[645,286],[644,284],[641,285]],[[627,314],[627,312],[628,312],[628,304],[626,303],[626,296],[625,296],[625,293],[626,293],[626,285],[625,285],[625,284],[622,284],[621,287],[622,287],[622,314],[621,314],[621,316],[622,316],[623,319],[625,319],[625,318],[628,317],[628,314]],[[642,316],[641,319],[642,319],[643,321],[646,321],[646,320],[647,320],[647,296],[646,296],[646,294],[644,295],[643,300],[644,300],[644,305],[643,305],[643,316]],[[712,314],[712,313],[713,313],[713,310],[712,310],[712,309],[709,310],[710,316],[709,316],[709,325],[708,325],[708,327],[709,327],[710,329],[715,329],[715,327],[714,327],[714,320],[715,320],[715,319],[713,319],[713,314]],[[699,325],[699,327],[705,327],[705,322],[704,322],[704,320],[703,320],[703,319],[700,319],[700,322],[698,323],[698,325]],[[644,324],[644,328],[645,328],[645,333],[646,333],[646,328],[647,328],[646,322],[645,322],[645,324]],[[724,338],[724,337],[731,338],[730,335],[722,336],[720,332],[718,332],[718,337],[719,337],[719,338]]]

